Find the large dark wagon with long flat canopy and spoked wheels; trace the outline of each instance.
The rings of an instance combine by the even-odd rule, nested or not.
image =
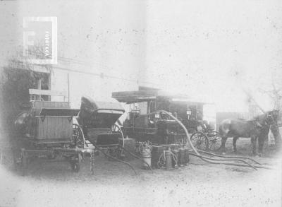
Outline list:
[[[112,97],[129,105],[128,116],[123,122],[123,134],[135,138],[137,142],[186,145],[187,136],[175,120],[161,113],[150,114],[166,110],[185,125],[196,148],[217,150],[220,147],[221,136],[210,127],[212,124],[203,121],[204,102],[147,89],[115,92]]]

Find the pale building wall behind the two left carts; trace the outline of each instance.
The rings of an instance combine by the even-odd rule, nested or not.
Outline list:
[[[69,78],[68,78],[69,76]],[[85,73],[62,71],[54,69],[51,73],[51,90],[68,92],[71,107],[80,107],[82,96],[92,97],[93,100],[109,101],[111,93],[119,90],[137,90],[137,82],[114,78],[102,78]],[[54,97],[52,100],[60,100]]]

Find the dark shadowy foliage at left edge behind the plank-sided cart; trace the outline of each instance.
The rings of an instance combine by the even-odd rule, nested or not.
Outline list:
[[[42,89],[48,89],[49,85],[49,74],[35,72],[32,64],[19,59],[11,59],[8,66],[0,71],[2,128],[11,136],[14,134],[13,121],[16,115],[30,107],[28,90],[37,88],[39,79],[43,80]]]

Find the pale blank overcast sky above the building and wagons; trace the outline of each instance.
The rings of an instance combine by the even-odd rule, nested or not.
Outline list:
[[[1,65],[23,45],[24,16],[57,16],[59,57],[87,63],[83,70],[139,78],[221,110],[245,110],[242,86],[268,87],[281,71],[282,1],[0,1]]]

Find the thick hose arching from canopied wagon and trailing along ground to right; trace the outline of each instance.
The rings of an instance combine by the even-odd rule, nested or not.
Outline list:
[[[149,116],[151,114],[158,114],[158,113],[164,113],[164,114],[168,115],[168,117],[171,117],[173,120],[175,120],[183,128],[183,130],[185,131],[185,134],[187,136],[188,143],[189,143],[190,147],[192,148],[192,150],[194,151],[194,153],[190,153],[190,155],[196,156],[196,157],[204,160],[205,162],[209,162],[209,163],[212,163],[212,164],[234,165],[234,166],[240,166],[240,167],[252,167],[255,170],[257,170],[257,168],[271,169],[270,167],[262,166],[261,164],[259,164],[259,162],[255,161],[255,160],[252,160],[250,158],[245,158],[245,157],[236,158],[236,157],[227,157],[227,156],[216,155],[214,153],[209,153],[209,155],[213,155],[213,156],[216,156],[216,157],[219,157],[219,158],[228,158],[228,159],[216,159],[216,158],[209,158],[209,157],[206,157],[204,155],[200,155],[200,153],[197,151],[197,149],[192,145],[192,141],[190,139],[190,136],[189,136],[189,133],[188,133],[188,130],[186,129],[186,127],[183,125],[182,122],[180,122],[178,119],[176,119],[176,117],[174,117],[171,113],[166,112],[165,110],[158,110],[156,112],[152,112],[152,113],[149,113],[149,114],[142,114],[141,116]],[[259,164],[259,166],[258,165],[252,165],[252,164],[246,162],[243,159],[252,160],[253,162],[256,162],[257,164]],[[239,161],[239,162],[243,162],[244,164],[235,163],[235,162],[227,162],[227,161]]]

